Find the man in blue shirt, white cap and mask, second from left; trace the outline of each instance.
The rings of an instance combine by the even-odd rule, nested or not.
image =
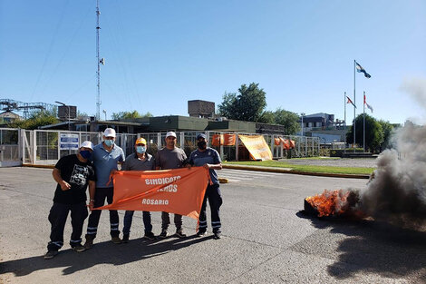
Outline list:
[[[101,207],[105,203],[112,203],[113,184],[110,181],[112,172],[118,170],[118,164],[124,162],[124,152],[115,145],[115,131],[112,128],[107,128],[102,135],[103,142],[94,146],[92,153],[92,161],[96,172],[96,191],[94,194],[93,207]],[[89,216],[87,225],[86,242],[84,248],[89,250],[92,248],[93,240],[96,238],[98,231],[99,218],[101,217],[99,210],[92,211]],[[119,230],[119,214],[117,211],[110,211],[111,224],[111,240],[113,243],[121,243]]]

